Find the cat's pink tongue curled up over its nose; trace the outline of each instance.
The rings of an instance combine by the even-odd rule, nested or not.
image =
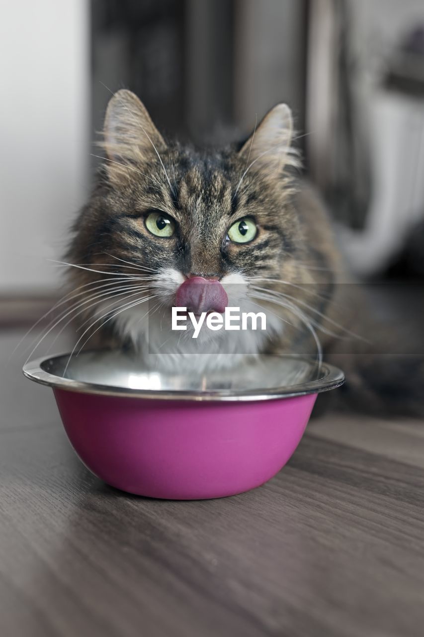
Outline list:
[[[222,313],[228,305],[228,297],[221,283],[202,276],[192,276],[181,283],[176,293],[176,306],[188,312]]]

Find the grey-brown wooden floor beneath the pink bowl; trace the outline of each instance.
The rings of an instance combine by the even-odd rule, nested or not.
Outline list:
[[[128,496],[78,461],[17,341],[0,336],[1,637],[422,636],[423,422],[322,417],[259,489]]]

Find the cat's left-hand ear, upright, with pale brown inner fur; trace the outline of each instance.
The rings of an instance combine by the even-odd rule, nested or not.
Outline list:
[[[118,90],[111,97],[104,118],[101,146],[109,160],[111,181],[127,180],[131,166],[148,161],[152,155],[166,150],[166,143],[146,111],[131,90]]]

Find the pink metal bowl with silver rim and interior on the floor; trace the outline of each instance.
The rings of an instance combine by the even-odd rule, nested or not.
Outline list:
[[[328,364],[260,355],[237,369],[171,375],[123,352],[32,361],[53,388],[67,436],[92,473],[117,489],[166,499],[230,496],[286,464],[319,392],[344,382]]]

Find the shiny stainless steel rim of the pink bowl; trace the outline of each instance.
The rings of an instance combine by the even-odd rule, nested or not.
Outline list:
[[[281,387],[272,388],[255,388],[248,390],[230,389],[230,390],[170,390],[170,389],[138,389],[132,387],[122,387],[113,385],[104,385],[96,382],[85,382],[81,380],[74,380],[72,378],[64,378],[63,376],[57,376],[43,369],[43,364],[47,362],[55,361],[60,357],[64,357],[69,354],[53,355],[48,357],[41,357],[34,361],[25,363],[22,369],[24,376],[33,380],[34,382],[41,383],[41,385],[48,385],[53,389],[62,389],[71,392],[77,392],[82,394],[99,394],[102,396],[121,396],[132,397],[140,399],[153,399],[153,400],[172,400],[172,401],[264,401],[274,400],[281,398],[289,398],[295,396],[305,396],[306,394],[318,394],[320,392],[336,389],[344,383],[343,372],[323,362],[320,367],[320,378],[316,380],[308,380],[294,385],[287,385]],[[266,357],[266,355],[264,355]],[[276,356],[270,355],[272,359],[292,359],[293,362],[304,362],[308,365],[314,365],[315,362],[301,356],[283,355]]]

